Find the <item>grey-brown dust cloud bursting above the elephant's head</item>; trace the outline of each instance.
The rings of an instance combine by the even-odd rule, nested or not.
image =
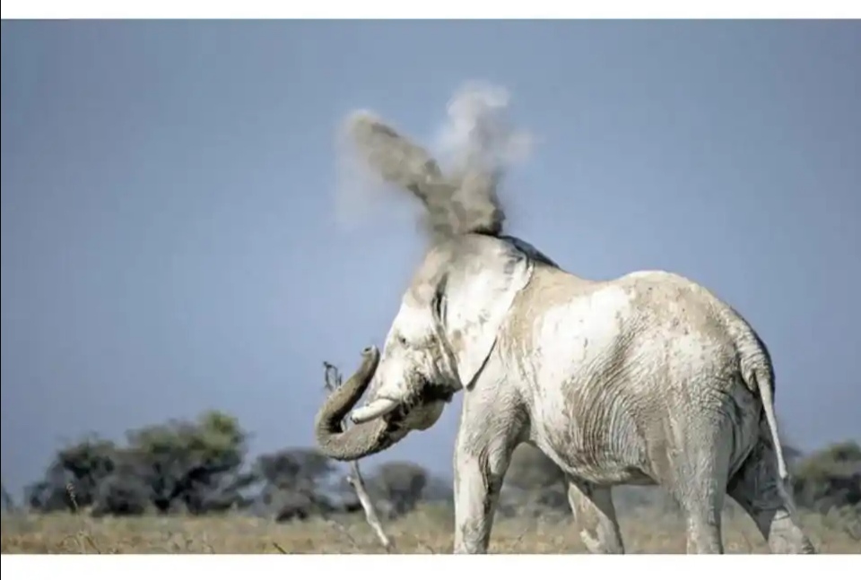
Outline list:
[[[336,139],[338,221],[352,226],[374,212],[401,212],[404,195],[397,192],[409,191],[422,202],[418,224],[431,239],[500,234],[503,179],[534,148],[532,135],[518,131],[508,114],[508,91],[465,83],[448,101],[429,150],[369,110],[352,112]]]

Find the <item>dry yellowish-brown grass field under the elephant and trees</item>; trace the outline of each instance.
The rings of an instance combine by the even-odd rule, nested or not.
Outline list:
[[[218,517],[147,516],[91,519],[83,515],[10,515],[2,521],[2,551],[8,553],[380,553],[384,550],[361,516],[276,524],[242,515]],[[640,514],[622,518],[631,553],[683,553],[681,521],[671,515]],[[839,522],[804,515],[804,527],[825,553],[859,553]],[[451,515],[422,508],[389,523],[397,552],[450,553]],[[752,523],[729,517],[724,525],[727,552],[767,553]],[[578,528],[570,520],[502,519],[493,529],[491,552],[584,552]]]

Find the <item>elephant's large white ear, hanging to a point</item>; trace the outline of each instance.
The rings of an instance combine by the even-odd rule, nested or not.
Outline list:
[[[477,253],[466,252],[454,261],[440,290],[439,316],[464,388],[481,372],[512,302],[534,270],[519,248],[499,238],[482,238],[474,248]]]

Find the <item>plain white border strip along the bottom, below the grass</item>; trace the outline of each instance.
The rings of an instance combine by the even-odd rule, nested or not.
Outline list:
[[[2,567],[6,580],[9,578],[74,577],[80,570],[88,580],[144,579],[153,575],[165,578],[214,577],[235,578],[250,575],[271,576],[277,574],[302,575],[323,578],[329,574],[347,577],[361,575],[362,569],[371,576],[400,575],[405,570],[411,580],[429,578],[436,580],[439,574],[450,574],[451,578],[465,576],[482,577],[556,577],[571,574],[584,578],[604,578],[615,573],[627,578],[647,577],[650,573],[662,580],[684,578],[690,580],[715,580],[732,577],[825,577],[844,574],[845,567],[856,568],[861,557],[846,556],[706,556],[690,558],[684,555],[634,555],[587,556],[587,555],[514,555],[452,556],[452,555],[339,555],[332,556],[288,556],[280,554],[264,556],[117,556],[114,558],[87,558],[83,556],[2,556]],[[255,567],[260,566],[255,571]],[[275,570],[275,568],[278,570]],[[403,567],[403,568],[402,568]],[[207,571],[208,568],[211,568]],[[472,568],[475,568],[473,571]],[[12,576],[8,576],[11,574]]]

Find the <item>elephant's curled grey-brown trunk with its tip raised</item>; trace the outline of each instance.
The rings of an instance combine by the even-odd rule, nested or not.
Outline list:
[[[317,446],[326,456],[338,461],[353,461],[394,445],[394,437],[387,434],[388,425],[385,419],[351,425],[346,430],[342,424],[344,417],[365,393],[378,364],[379,351],[375,347],[362,351],[359,369],[344,385],[329,394],[317,412],[314,433]]]

